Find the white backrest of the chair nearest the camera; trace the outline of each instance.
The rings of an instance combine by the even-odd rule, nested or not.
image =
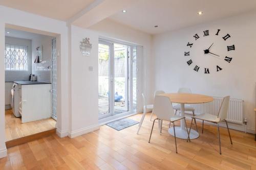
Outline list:
[[[169,98],[166,96],[156,95],[154,102],[154,114],[157,118],[168,120],[174,117],[173,104],[170,102]]]

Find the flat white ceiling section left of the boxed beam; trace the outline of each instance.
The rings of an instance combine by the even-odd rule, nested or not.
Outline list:
[[[59,20],[67,20],[94,0],[0,0],[0,5],[47,16]]]

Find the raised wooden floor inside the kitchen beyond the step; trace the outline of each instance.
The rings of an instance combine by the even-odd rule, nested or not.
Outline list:
[[[55,129],[56,121],[52,118],[22,124],[20,117],[15,117],[12,110],[5,111],[6,141]]]

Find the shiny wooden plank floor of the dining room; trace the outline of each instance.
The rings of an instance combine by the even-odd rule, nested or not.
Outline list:
[[[139,120],[141,114],[132,116]],[[52,135],[8,149],[0,159],[0,169],[256,169],[256,142],[252,134],[221,128],[222,155],[219,154],[216,127],[205,125],[204,134],[186,142],[167,133],[163,123],[159,135],[146,115],[140,134],[138,125],[116,131],[108,126],[70,139]],[[190,124],[190,121],[188,121]],[[198,123],[201,130],[201,124]]]

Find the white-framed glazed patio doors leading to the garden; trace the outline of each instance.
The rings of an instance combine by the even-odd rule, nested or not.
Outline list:
[[[137,47],[99,41],[99,119],[136,112]]]

